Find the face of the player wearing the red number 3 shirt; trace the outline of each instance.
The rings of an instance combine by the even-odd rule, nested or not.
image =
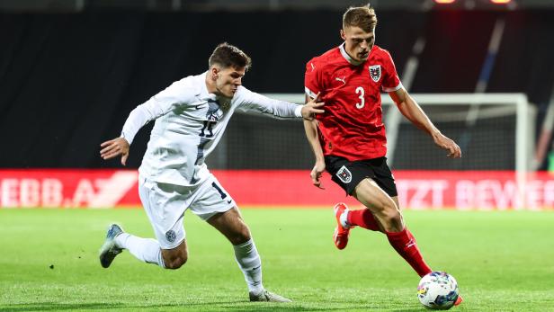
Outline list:
[[[375,43],[375,31],[366,32],[357,26],[345,27],[341,30],[346,53],[357,61],[365,61],[370,56]]]

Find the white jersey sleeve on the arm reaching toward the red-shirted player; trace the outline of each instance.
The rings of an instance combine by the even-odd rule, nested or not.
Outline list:
[[[298,119],[302,117],[301,105],[271,99],[262,94],[256,94],[244,86],[239,87],[239,111],[257,112],[278,119]],[[236,96],[237,96],[236,95]]]

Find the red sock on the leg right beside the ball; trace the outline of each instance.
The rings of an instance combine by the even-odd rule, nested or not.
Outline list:
[[[419,276],[423,277],[425,274],[433,272],[429,265],[425,263],[424,257],[419,252],[417,244],[415,244],[415,237],[407,227],[404,227],[401,232],[387,232],[386,234],[390,245],[414,268]]]

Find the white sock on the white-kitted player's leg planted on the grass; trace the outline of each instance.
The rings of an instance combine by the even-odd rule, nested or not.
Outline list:
[[[254,240],[250,238],[246,243],[233,245],[233,248],[235,248],[235,258],[237,259],[238,267],[245,273],[248,291],[255,294],[264,291],[264,285],[262,285],[262,261],[260,260],[258,250],[255,248]]]

